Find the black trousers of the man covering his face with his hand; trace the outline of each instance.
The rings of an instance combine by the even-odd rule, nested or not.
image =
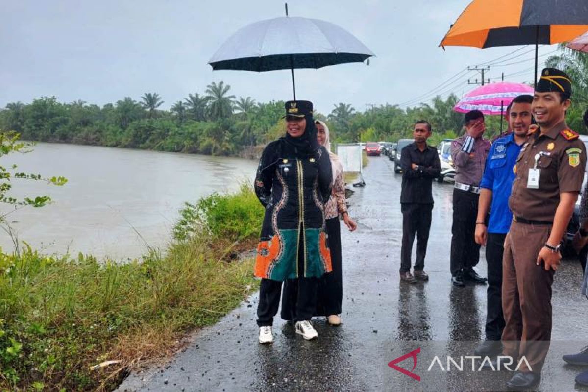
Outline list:
[[[451,226],[450,269],[455,276],[480,261],[480,245],[475,241],[477,206],[480,195],[453,189],[453,225]]]

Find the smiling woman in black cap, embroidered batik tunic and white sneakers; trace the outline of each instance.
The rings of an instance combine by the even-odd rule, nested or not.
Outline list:
[[[327,150],[316,140],[312,102],[286,102],[286,135],[263,150],[255,193],[265,217],[255,260],[259,289],[259,343],[273,343],[282,282],[296,279],[296,333],[315,339],[317,278],[332,270],[325,233],[325,202],[332,169]]]

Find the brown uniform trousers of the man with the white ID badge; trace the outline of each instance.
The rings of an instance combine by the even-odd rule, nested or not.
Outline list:
[[[553,270],[537,265],[551,226],[513,222],[502,257],[502,309],[506,327],[502,333],[504,354],[526,357],[522,371],[540,373],[549,351],[552,331]]]

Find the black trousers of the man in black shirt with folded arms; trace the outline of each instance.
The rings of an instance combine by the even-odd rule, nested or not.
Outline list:
[[[427,242],[433,215],[432,204],[402,203],[402,250],[400,250],[400,273],[410,272],[410,256],[416,234],[415,271],[425,268]]]

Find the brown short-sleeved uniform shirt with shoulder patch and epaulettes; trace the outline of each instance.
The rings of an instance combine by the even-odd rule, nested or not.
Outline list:
[[[575,133],[568,130],[562,121],[545,135],[537,129],[524,143],[517,158],[516,179],[510,194],[509,207],[515,217],[529,220],[553,222],[559,194],[561,192],[580,192],[586,166],[586,149]],[[527,187],[529,169],[533,169],[535,156],[543,152],[537,162],[540,169],[539,188]]]

